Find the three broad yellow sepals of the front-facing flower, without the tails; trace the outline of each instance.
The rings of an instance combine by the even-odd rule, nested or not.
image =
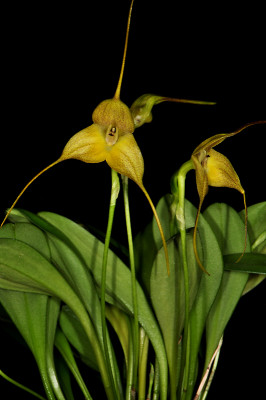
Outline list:
[[[58,162],[74,158],[86,163],[106,161],[116,172],[142,187],[144,162],[133,136],[129,108],[118,99],[104,100],[92,114],[93,124],[76,133]]]

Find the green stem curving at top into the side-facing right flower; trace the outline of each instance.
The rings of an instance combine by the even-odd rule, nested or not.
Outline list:
[[[190,360],[190,334],[189,334],[189,276],[187,264],[187,244],[186,244],[186,220],[185,220],[185,181],[186,175],[194,169],[191,160],[184,163],[177,174],[174,175],[171,186],[173,194],[178,198],[178,206],[176,208],[176,218],[178,220],[181,248],[182,248],[182,261],[184,273],[184,291],[185,291],[185,321],[184,321],[184,334],[183,346],[184,349],[182,357],[182,371],[181,371],[181,399],[185,399],[188,386],[189,377],[189,360]]]

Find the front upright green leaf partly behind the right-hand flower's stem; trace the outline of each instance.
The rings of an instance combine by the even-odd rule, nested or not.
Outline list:
[[[187,235],[190,308],[196,297],[201,278],[193,252],[193,235]],[[169,364],[171,393],[174,395],[178,380],[178,341],[181,340],[185,318],[185,289],[182,264],[182,250],[179,236],[168,243],[171,271],[168,276],[162,268],[164,254],[159,250],[155,258],[151,278],[151,300],[159,321]]]

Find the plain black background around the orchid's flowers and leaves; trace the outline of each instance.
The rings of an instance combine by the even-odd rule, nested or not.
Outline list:
[[[266,118],[265,13],[259,2],[232,7],[136,0],[121,99],[129,106],[144,93],[216,101],[215,106],[161,104],[136,130],[145,161],[144,185],[154,203],[194,148],[216,133]],[[129,1],[38,2],[6,6],[2,13],[2,135],[0,211],[29,179],[56,160],[68,139],[91,124],[97,104],[114,95],[120,72]],[[263,30],[264,29],[264,30]],[[247,203],[265,201],[265,126],[219,146],[238,172]],[[110,169],[69,160],[40,177],[19,201],[105,230]],[[152,218],[130,185],[134,233]],[[187,178],[195,205],[195,176]],[[243,208],[240,193],[211,188],[204,206]],[[121,199],[114,237],[126,243]],[[209,398],[259,398],[264,391],[265,283],[245,296],[226,330]],[[4,364],[1,365],[4,368]]]

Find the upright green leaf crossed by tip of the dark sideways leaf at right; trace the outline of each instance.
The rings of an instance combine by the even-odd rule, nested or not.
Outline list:
[[[245,225],[238,213],[227,204],[216,203],[209,206],[204,217],[216,235],[223,255],[240,253],[245,242]],[[246,251],[250,251],[249,239]],[[236,263],[237,258],[234,259]],[[241,262],[241,260],[240,260]],[[238,265],[239,263],[236,263]],[[206,323],[206,359],[204,371],[215,352],[228,321],[242,296],[248,280],[248,274],[237,271],[225,271],[222,282],[212,305]]]

